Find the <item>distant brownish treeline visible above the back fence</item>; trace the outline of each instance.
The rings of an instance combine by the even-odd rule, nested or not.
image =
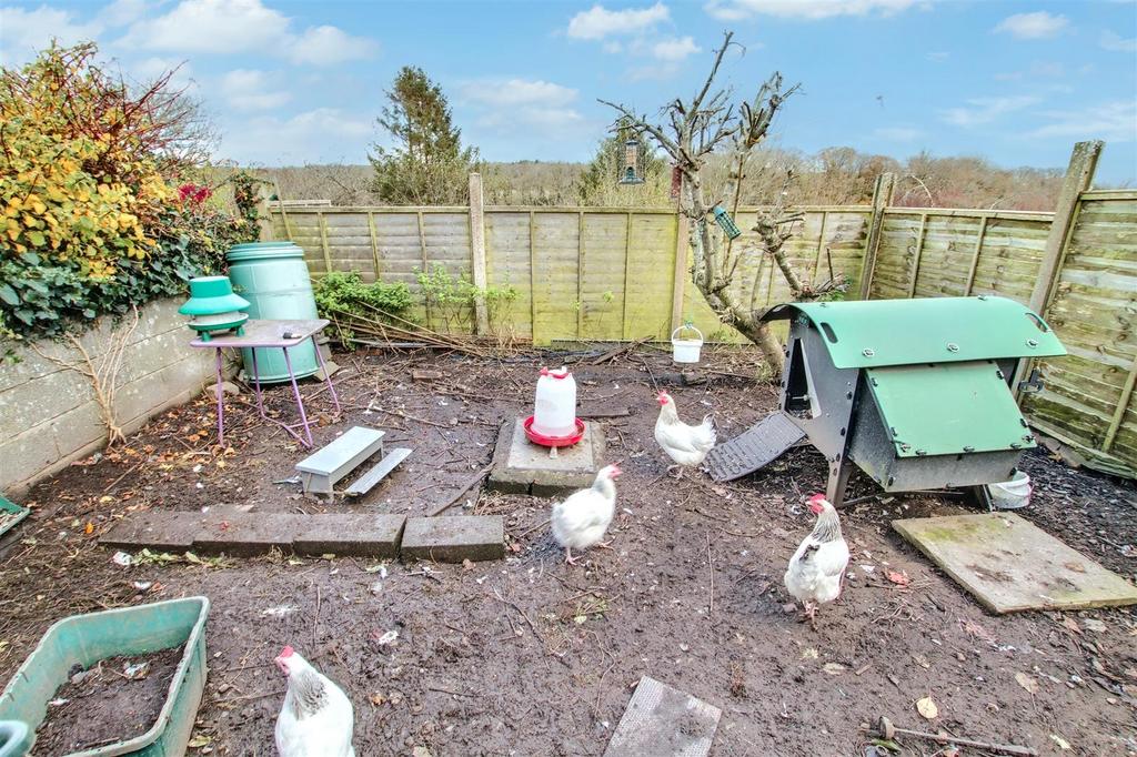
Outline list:
[[[488,205],[620,206],[669,205],[670,175],[653,170],[644,184],[620,185],[619,166],[612,167],[611,186],[596,181],[596,168],[584,163],[483,164]],[[605,170],[607,168],[605,167]],[[742,183],[741,203],[771,203],[785,185],[787,170],[794,205],[865,205],[873,182],[883,172],[897,175],[894,205],[905,207],[1053,210],[1062,170],[1057,168],[999,168],[982,158],[937,158],[928,153],[907,160],[829,148],[815,155],[766,149],[755,153]],[[383,205],[373,194],[371,166],[308,165],[266,168],[260,173],[285,200],[330,200],[332,205]],[[727,167],[712,165],[712,188],[722,185]]]

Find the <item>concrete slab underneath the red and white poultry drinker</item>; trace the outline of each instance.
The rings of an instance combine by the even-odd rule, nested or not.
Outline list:
[[[579,443],[559,448],[554,457],[525,438],[523,419],[516,418],[501,424],[485,485],[511,494],[567,494],[592,485],[603,460],[604,430],[595,422],[584,423]]]

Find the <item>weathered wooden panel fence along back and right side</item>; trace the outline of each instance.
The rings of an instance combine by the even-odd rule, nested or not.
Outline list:
[[[1093,467],[1137,477],[1137,191],[1088,189],[1099,150],[1076,147],[1070,201],[1057,214],[888,207],[895,182],[885,176],[872,206],[803,208],[787,250],[815,283],[849,276],[852,296],[997,294],[1032,305],[1070,355],[1039,366],[1045,389],[1022,398],[1028,418]],[[738,339],[690,282],[687,224],[673,209],[479,209],[476,198],[448,208],[275,206],[271,225],[274,239],[304,248],[317,277],[357,271],[416,290],[417,272],[441,266],[508,284],[516,299],[489,319],[534,344],[663,340],[687,319],[708,339]],[[742,209],[738,226],[752,227],[755,213]],[[736,244],[747,250],[736,297],[754,309],[788,299],[753,233]],[[476,323],[417,315],[435,327]]]

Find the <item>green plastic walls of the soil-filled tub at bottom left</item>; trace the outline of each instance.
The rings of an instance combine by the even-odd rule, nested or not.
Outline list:
[[[208,615],[207,597],[188,597],[72,615],[52,625],[0,693],[0,722],[20,721],[28,731],[11,754],[24,755],[32,748],[48,702],[67,682],[73,666],[86,669],[107,657],[147,655],[184,643],[166,701],[149,731],[69,757],[184,755],[206,685]],[[0,757],[8,754],[7,747],[0,742]]]

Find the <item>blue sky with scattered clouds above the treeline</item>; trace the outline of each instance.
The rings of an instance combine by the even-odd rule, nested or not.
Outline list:
[[[803,91],[781,147],[906,157],[979,155],[1063,167],[1107,142],[1103,183],[1137,183],[1137,2],[706,0],[703,2],[5,2],[0,55],[52,35],[97,40],[134,77],[180,80],[254,165],[363,163],[383,90],[421,66],[490,160],[584,160],[612,114],[689,95],[722,31],[739,99],[774,69]]]

